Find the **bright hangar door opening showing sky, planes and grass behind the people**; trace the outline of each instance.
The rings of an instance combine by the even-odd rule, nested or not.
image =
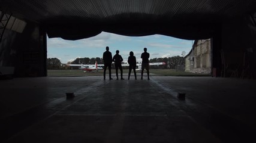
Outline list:
[[[197,67],[186,69],[186,58],[191,58],[191,51],[196,49],[192,47],[200,45],[194,42],[163,35],[131,37],[106,32],[76,41],[47,38],[48,76],[103,76],[103,52],[106,51],[106,46],[109,46],[112,56],[116,54],[116,50],[119,50],[119,54],[124,59],[122,61],[124,73],[128,73],[128,57],[131,51],[134,52],[137,70],[140,72],[141,53],[144,52],[143,48],[147,48],[150,54],[149,63],[162,63],[150,66],[152,75],[205,74],[209,76],[210,47],[207,47],[208,55],[200,55],[203,57],[200,70]],[[202,43],[204,42],[210,43],[210,39]],[[95,63],[98,69],[95,68]],[[112,64],[112,70],[115,74],[115,64]]]

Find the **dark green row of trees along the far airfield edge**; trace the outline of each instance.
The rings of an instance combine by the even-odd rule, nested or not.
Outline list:
[[[76,60],[68,62],[67,64],[104,64],[103,58],[76,58]],[[150,63],[165,62],[165,65],[151,66],[151,69],[176,69],[177,66],[185,64],[185,58],[179,55],[168,57],[168,58],[152,58],[149,60]],[[137,62],[138,63],[138,62]],[[124,67],[128,68],[128,67]],[[47,69],[67,69],[65,64],[62,64],[58,58],[47,58]],[[73,68],[75,69],[75,68]],[[78,67],[77,67],[78,69]]]

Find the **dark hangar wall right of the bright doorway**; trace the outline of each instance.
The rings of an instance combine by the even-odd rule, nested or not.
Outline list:
[[[224,65],[221,50],[225,58],[227,70],[238,69],[238,76],[256,76],[256,25],[252,15],[236,17],[222,21],[212,41],[212,67],[217,69],[217,76],[221,75]],[[232,72],[230,70],[230,72]],[[250,73],[248,73],[250,72]],[[248,75],[251,74],[251,75]],[[230,77],[230,73],[226,77]]]

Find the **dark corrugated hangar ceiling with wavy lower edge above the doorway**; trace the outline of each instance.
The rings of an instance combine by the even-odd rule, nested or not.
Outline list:
[[[101,32],[127,36],[211,38],[224,20],[253,14],[255,0],[0,0],[0,11],[32,21],[50,38]]]

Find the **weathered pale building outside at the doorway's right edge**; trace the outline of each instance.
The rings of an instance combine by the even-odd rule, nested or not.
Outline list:
[[[185,71],[200,70],[201,73],[211,69],[211,39],[196,40],[191,51],[185,56]]]

